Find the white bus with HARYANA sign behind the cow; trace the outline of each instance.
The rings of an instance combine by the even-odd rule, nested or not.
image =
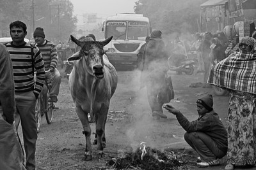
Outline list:
[[[136,67],[137,53],[151,32],[150,22],[142,14],[120,13],[106,18],[104,38],[113,36],[104,50],[115,67]]]

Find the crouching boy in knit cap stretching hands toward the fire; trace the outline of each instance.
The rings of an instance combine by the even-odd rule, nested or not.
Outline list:
[[[176,115],[179,124],[186,131],[186,142],[200,155],[199,167],[216,166],[227,154],[227,130],[218,114],[213,110],[212,95],[200,97],[196,101],[198,119],[189,122],[179,110],[166,104],[164,108]]]

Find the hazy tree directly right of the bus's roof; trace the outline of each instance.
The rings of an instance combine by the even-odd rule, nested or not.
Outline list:
[[[150,19],[153,29],[165,34],[173,32],[197,32],[200,4],[207,0],[138,0],[135,13],[142,13]]]

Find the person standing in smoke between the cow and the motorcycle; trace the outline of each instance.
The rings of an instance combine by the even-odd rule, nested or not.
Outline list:
[[[159,30],[152,31],[141,61],[141,87],[147,87],[148,103],[156,119],[167,118],[162,106],[174,97],[172,80],[166,78],[168,54],[161,35]]]

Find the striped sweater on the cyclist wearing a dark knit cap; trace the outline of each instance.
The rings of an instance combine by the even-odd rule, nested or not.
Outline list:
[[[56,68],[58,62],[57,48],[52,41],[45,39],[42,45],[36,45],[42,53],[44,59],[45,70],[49,70],[50,67]]]

